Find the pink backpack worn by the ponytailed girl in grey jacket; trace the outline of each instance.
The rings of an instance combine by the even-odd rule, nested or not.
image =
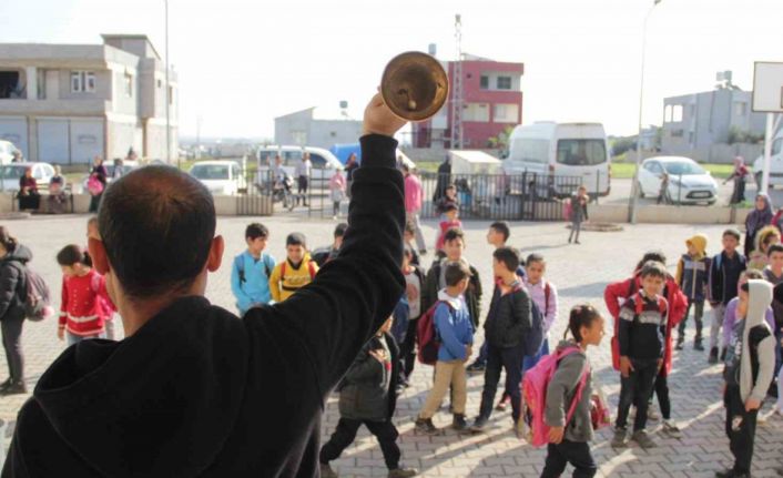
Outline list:
[[[522,417],[525,421],[525,436],[533,447],[542,447],[549,443],[549,426],[543,420],[543,414],[547,408],[547,387],[551,382],[555,372],[558,368],[559,362],[578,352],[578,347],[568,347],[553,355],[547,355],[536,364],[535,367],[525,373],[522,377]],[[582,378],[577,385],[577,394],[573,396],[573,401],[568,408],[566,415],[566,424],[571,420],[573,413],[577,409],[577,404],[582,397],[582,390],[587,384],[590,367],[584,370]]]

